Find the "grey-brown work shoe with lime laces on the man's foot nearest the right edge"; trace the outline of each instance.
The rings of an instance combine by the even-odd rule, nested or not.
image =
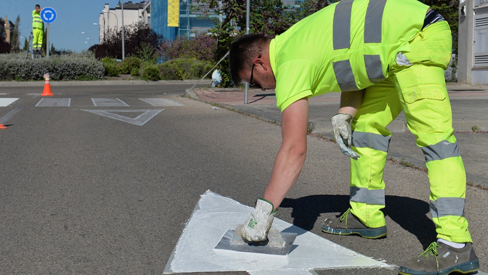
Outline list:
[[[448,275],[453,272],[468,274],[480,268],[473,245],[454,248],[441,242],[432,243],[418,257],[408,260],[398,269],[401,275]]]

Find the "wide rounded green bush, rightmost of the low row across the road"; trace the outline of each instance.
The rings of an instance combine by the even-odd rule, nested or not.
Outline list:
[[[196,59],[177,58],[158,65],[159,77],[165,80],[199,79],[212,69],[212,64]]]

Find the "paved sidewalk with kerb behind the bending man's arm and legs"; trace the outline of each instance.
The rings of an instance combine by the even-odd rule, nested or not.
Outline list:
[[[448,85],[453,110],[453,127],[461,147],[466,167],[467,181],[472,185],[488,188],[488,86]],[[195,99],[218,104],[243,112],[262,120],[281,123],[281,114],[276,106],[273,91],[248,91],[244,104],[244,89],[201,88],[186,91]],[[339,108],[340,93],[328,93],[309,99],[309,128],[313,134],[333,139],[330,117]],[[478,130],[475,133],[472,128]],[[425,168],[422,150],[415,144],[401,113],[388,129],[393,133],[388,150],[388,159],[404,165]]]

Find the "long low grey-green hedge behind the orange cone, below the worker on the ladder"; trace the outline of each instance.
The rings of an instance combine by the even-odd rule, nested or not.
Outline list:
[[[0,80],[43,80],[46,73],[55,81],[105,79],[103,64],[88,52],[50,59],[25,59],[22,53],[0,54]]]

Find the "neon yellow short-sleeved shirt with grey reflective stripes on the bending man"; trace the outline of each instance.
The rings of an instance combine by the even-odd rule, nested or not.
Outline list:
[[[300,20],[269,45],[278,108],[386,79],[428,8],[417,0],[341,0]]]

